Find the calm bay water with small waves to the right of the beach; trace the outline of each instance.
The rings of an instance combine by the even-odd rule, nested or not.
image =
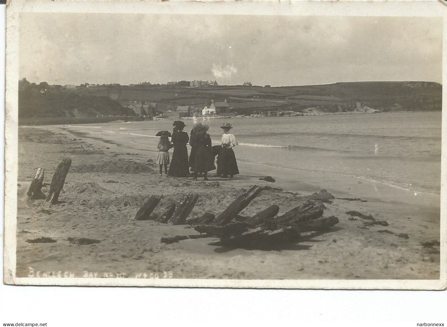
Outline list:
[[[185,122],[189,133],[193,121]],[[440,193],[441,112],[210,119],[206,123],[215,143],[223,122],[234,127],[240,161],[333,172]],[[103,131],[132,139],[140,148],[155,148],[157,139],[151,136],[160,129],[172,130],[172,121],[101,126]]]

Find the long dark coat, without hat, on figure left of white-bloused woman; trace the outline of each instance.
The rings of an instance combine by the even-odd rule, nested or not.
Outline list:
[[[210,134],[201,133],[191,135],[190,145],[194,148],[194,154],[191,150],[190,166],[193,172],[210,172],[216,169],[214,165],[214,156],[211,151]],[[192,157],[192,164],[191,164]]]

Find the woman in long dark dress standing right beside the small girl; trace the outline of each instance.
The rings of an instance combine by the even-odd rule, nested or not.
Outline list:
[[[172,153],[168,175],[187,177],[190,174],[190,169],[188,166],[188,150],[186,149],[186,144],[188,144],[190,138],[188,137],[188,133],[183,132],[183,129],[186,127],[183,121],[176,120],[173,126],[171,142],[173,143],[174,151]]]

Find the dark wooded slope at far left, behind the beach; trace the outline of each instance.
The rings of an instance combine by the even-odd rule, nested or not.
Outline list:
[[[20,90],[19,118],[134,116],[109,97],[79,95],[74,92],[51,90],[34,92]]]

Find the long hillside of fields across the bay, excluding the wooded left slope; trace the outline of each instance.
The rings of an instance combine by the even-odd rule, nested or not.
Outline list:
[[[340,82],[312,86],[150,86],[135,88],[91,87],[78,90],[83,95],[108,96],[120,103],[156,102],[161,110],[190,105],[203,108],[215,101],[228,100],[232,112],[322,112],[356,111],[364,106],[383,112],[441,110],[442,86],[433,82]],[[361,110],[360,110],[361,111]]]

